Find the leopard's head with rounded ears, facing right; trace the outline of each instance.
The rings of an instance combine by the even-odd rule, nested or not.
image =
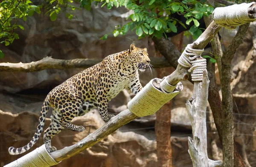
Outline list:
[[[135,47],[134,44],[131,44],[129,53],[131,63],[134,64],[134,66],[136,66],[140,71],[145,71],[150,64],[147,48],[141,49]]]

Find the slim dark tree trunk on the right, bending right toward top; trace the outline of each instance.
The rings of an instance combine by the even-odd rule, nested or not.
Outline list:
[[[231,61],[233,60],[236,49],[243,40],[250,23],[239,27],[236,36],[224,51],[221,58],[221,93],[222,93],[222,149],[224,167],[234,166],[234,140],[233,140],[233,98],[230,88],[231,80]]]

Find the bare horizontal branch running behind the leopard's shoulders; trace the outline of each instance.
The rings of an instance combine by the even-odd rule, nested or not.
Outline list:
[[[151,64],[154,68],[162,68],[171,66],[165,58],[150,58]],[[42,60],[32,61],[30,63],[0,63],[0,72],[35,72],[44,69],[71,69],[71,68],[89,68],[103,59],[89,58],[89,59],[72,59],[61,60],[46,57]]]

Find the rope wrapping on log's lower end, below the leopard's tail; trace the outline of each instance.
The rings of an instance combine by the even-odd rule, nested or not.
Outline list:
[[[50,167],[60,162],[56,162],[46,150],[45,144],[34,151],[20,157],[16,161],[4,167]]]

